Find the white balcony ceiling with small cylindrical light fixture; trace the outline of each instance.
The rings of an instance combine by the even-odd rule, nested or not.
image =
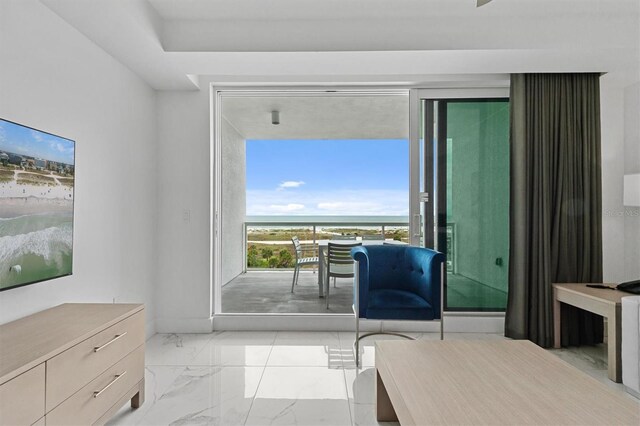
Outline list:
[[[408,139],[408,106],[402,95],[224,97],[222,116],[245,139]]]

